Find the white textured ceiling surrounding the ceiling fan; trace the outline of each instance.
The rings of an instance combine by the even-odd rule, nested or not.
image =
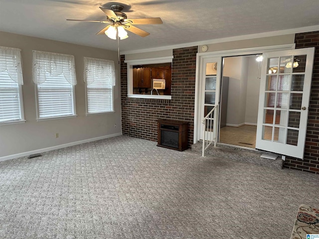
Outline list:
[[[0,0],[0,31],[117,50],[117,41],[95,35],[106,19],[99,6],[120,1]],[[206,41],[238,35],[319,25],[318,0],[123,0],[128,18],[161,17],[161,25],[139,25],[121,51]]]

